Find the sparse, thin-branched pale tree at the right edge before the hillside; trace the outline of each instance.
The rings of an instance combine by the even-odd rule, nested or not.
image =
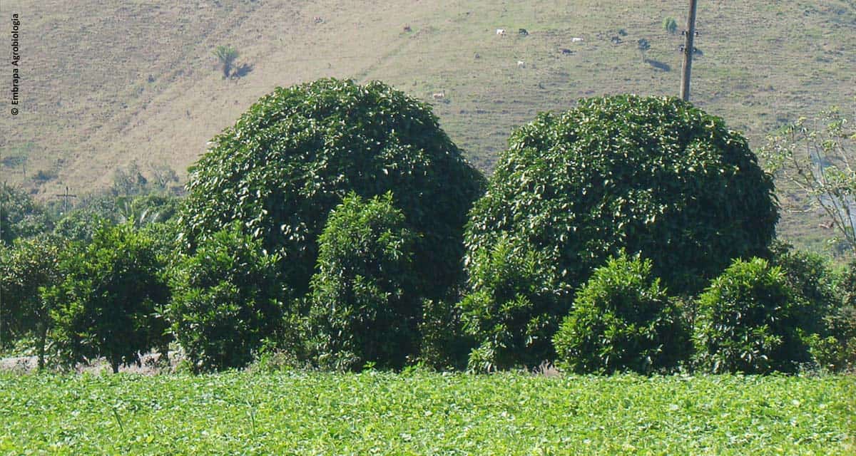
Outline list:
[[[810,209],[823,210],[856,254],[856,131],[838,108],[823,112],[819,122],[823,127],[800,117],[770,135],[760,155],[771,174],[809,198]]]

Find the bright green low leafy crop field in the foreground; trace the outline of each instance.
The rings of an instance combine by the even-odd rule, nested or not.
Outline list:
[[[853,454],[854,376],[0,374],[3,454]]]

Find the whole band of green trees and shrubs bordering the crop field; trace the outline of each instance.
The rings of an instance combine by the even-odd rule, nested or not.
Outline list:
[[[129,172],[114,210],[54,222],[4,189],[6,345],[114,372],[172,341],[196,372],[271,351],[354,371],[856,364],[856,263],[777,242],[746,139],[676,98],[538,115],[485,181],[430,106],[317,80],[260,98],[190,172],[181,200]],[[847,208],[847,188],[818,197]]]

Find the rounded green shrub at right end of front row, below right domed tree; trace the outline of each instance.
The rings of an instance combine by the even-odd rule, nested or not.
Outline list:
[[[698,299],[698,367],[714,373],[794,372],[811,362],[810,306],[766,260],[736,260]]]

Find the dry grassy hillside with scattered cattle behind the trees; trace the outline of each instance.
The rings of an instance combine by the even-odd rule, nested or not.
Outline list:
[[[384,80],[436,104],[451,138],[490,171],[508,133],[538,111],[604,93],[677,94],[681,36],[662,23],[682,23],[685,9],[683,0],[12,0],[3,15],[21,15],[24,104],[0,116],[0,171],[40,198],[104,187],[131,161],[183,174],[261,95],[324,76]],[[755,147],[783,122],[856,95],[853,0],[700,2],[698,29],[693,102]],[[648,62],[639,38],[651,43]],[[223,80],[211,54],[219,44],[252,71]],[[816,224],[787,216],[782,229],[827,234]]]

